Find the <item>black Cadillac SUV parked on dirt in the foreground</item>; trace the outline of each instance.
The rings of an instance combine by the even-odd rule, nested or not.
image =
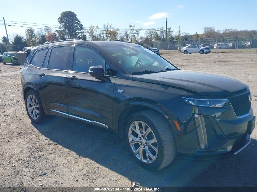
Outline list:
[[[59,115],[111,129],[149,170],[167,166],[176,154],[229,157],[250,143],[255,125],[245,83],[180,70],[133,43],[75,39],[38,45],[20,74],[32,122]]]

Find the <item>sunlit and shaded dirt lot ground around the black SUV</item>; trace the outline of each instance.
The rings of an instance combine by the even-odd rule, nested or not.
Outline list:
[[[181,69],[214,72],[246,82],[257,113],[257,53],[162,55]],[[0,64],[1,186],[257,186],[257,128],[252,146],[231,158],[175,158],[158,172],[137,165],[108,130],[51,116],[30,122],[20,93],[19,68]],[[23,184],[21,184],[23,183]]]

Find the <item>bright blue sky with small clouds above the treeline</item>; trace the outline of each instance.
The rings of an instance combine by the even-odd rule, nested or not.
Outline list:
[[[202,33],[205,26],[215,29],[257,29],[256,0],[227,0],[227,1],[20,1],[1,9],[1,17],[7,21],[42,23],[59,25],[57,18],[61,12],[71,10],[77,14],[84,27],[103,23],[112,23],[115,28],[128,29],[128,25],[135,24],[137,28],[165,27],[165,16],[168,26],[182,32],[194,34]],[[5,34],[4,25],[0,21],[0,37]],[[6,22],[10,23],[10,22]],[[11,24],[17,25],[17,24]],[[24,25],[27,26],[27,25]],[[33,26],[39,28],[38,26]],[[57,27],[57,26],[56,26]],[[54,29],[54,28],[53,28]],[[10,37],[13,34],[25,35],[26,27],[7,26]]]

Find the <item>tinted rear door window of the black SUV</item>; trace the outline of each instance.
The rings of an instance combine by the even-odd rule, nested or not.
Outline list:
[[[52,48],[47,68],[65,70],[69,49],[69,46]]]

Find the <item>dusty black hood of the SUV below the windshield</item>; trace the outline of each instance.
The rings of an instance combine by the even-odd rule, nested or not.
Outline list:
[[[188,70],[133,75],[132,79],[186,89],[188,92],[202,96],[228,96],[233,92],[248,88],[244,82],[228,76]]]

